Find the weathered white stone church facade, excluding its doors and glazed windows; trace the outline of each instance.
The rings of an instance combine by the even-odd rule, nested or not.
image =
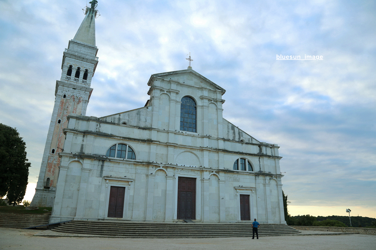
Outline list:
[[[122,219],[177,219],[179,177],[196,178],[195,218],[240,221],[240,195],[250,217],[285,223],[278,146],[259,142],[222,117],[225,90],[192,69],[150,77],[147,106],[106,117],[68,116],[51,222],[110,219],[110,187],[126,187]],[[197,131],[180,131],[180,100],[197,103]],[[126,123],[126,124],[122,124]],[[136,159],[106,156],[129,145]],[[246,159],[248,171],[233,170]]]

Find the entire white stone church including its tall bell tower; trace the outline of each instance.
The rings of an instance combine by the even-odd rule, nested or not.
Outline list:
[[[144,107],[86,116],[98,64],[95,7],[64,51],[32,205],[53,207],[50,223],[285,224],[279,147],[224,119],[226,90],[192,67],[151,75]]]

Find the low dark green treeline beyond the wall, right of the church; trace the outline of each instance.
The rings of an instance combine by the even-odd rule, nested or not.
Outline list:
[[[286,222],[290,226],[339,226],[339,227],[349,227],[350,220],[349,216],[310,216],[307,215],[298,215],[290,216],[286,218]],[[364,227],[375,227],[376,228],[376,219],[370,217],[362,216],[352,216],[351,224],[353,228],[364,228]]]

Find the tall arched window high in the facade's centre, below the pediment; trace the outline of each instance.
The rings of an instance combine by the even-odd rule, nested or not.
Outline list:
[[[189,96],[182,98],[180,105],[180,130],[196,133],[196,102]]]

